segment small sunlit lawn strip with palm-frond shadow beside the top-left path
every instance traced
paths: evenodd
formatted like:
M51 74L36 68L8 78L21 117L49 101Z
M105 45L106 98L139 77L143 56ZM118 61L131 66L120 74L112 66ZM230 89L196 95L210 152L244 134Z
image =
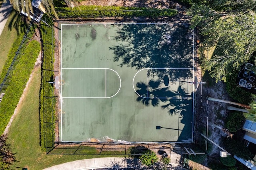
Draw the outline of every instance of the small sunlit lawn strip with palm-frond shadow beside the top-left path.
M2 1L1 1L2 2ZM1 4L0 2L0 4ZM2 73L2 69L4 67L4 64L6 62L6 59L8 57L8 53L10 51L10 48L12 47L12 43L14 40L16 40L18 34L23 30L18 30L16 28L19 27L19 23L17 23L17 20L20 21L21 16L18 15L14 10L10 14L6 25L4 27L4 30L2 31L2 34L0 36L0 74Z

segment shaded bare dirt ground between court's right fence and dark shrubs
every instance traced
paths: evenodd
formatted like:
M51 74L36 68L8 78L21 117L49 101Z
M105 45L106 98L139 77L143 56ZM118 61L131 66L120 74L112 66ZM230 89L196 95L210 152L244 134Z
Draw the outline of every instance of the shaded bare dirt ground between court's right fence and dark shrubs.
M200 141L200 139L204 138L199 131L204 130L205 134L208 125L208 138L223 148L222 139L228 137L222 130L222 128L225 127L225 119L229 113L227 109L228 104L208 101L207 98L212 97L230 101L230 97L226 92L226 85L223 81L215 83L214 79L205 79L203 78L200 65L198 65L197 69L198 81L206 82L206 84L201 84L196 92L196 141ZM208 166L208 162L214 159L214 155L219 155L221 150L211 142L208 143L210 143L211 146L208 146L208 158L204 162L205 166ZM195 166L195 162L192 162L190 166L194 168L197 167Z

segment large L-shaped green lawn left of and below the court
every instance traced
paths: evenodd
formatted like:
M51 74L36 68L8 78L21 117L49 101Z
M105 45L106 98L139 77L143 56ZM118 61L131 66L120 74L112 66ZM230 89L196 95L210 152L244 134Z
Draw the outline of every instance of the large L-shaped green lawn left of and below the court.
M32 81L28 86L24 100L14 118L8 132L8 143L11 144L12 152L16 153L16 160L11 168L28 168L41 170L56 164L74 160L111 157L113 155L54 155L47 154L39 146L39 90L40 68L34 70ZM116 155L115 155L116 157Z

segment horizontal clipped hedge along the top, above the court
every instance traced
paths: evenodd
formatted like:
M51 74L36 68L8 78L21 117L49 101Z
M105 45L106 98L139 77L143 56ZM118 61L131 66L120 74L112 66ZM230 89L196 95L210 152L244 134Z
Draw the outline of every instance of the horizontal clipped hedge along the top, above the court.
M56 8L59 18L98 17L170 17L177 14L175 9L138 8L123 6L79 6Z

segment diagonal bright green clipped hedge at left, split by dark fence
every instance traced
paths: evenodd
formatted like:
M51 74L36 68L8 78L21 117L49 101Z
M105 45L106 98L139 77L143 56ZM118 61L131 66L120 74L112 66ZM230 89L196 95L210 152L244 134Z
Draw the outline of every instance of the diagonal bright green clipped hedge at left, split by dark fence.
M32 37L32 33L29 34L27 37ZM10 52L8 54L8 60L6 61L3 72L1 74L1 81L2 77L6 75L6 72L10 67L10 63L14 58L15 52L21 42L22 36L19 36L14 42L12 48L10 49ZM6 128L8 122L10 121L10 118L14 113L14 110L30 77L32 69L34 68L34 64L36 62L36 58L39 55L39 52L40 43L35 40L32 40L27 45L24 45L24 48L20 50L20 53L23 53L23 55L18 58L18 63L15 65L14 71L12 72L10 85L5 91L5 95L2 99L0 106L0 134L4 132L4 129Z

